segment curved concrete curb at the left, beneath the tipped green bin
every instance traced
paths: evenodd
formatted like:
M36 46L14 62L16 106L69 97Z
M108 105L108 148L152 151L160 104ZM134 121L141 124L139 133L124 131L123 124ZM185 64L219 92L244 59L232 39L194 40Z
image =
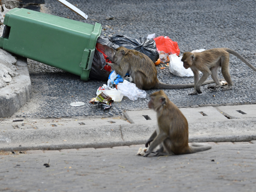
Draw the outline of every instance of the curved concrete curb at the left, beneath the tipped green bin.
M0 91L0 117L12 116L31 98L31 82L27 68L27 58L17 58L18 76L12 78L8 86Z

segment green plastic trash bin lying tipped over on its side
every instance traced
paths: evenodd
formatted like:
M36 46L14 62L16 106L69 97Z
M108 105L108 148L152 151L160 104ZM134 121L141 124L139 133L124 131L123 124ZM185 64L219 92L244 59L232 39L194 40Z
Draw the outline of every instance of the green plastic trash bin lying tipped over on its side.
M4 25L2 49L88 80L101 24L14 8L5 14Z

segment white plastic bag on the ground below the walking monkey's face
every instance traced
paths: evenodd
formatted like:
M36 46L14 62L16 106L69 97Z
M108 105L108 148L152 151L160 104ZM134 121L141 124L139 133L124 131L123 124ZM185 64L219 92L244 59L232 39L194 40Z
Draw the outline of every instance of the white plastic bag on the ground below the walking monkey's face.
M169 69L170 72L179 77L193 77L194 73L190 68L185 69L183 67L182 57L178 57L176 54L169 55Z

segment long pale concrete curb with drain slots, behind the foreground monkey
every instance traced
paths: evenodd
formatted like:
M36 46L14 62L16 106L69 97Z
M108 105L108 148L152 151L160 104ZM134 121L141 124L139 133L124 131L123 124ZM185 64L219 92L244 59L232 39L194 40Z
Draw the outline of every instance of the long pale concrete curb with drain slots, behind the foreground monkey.
M228 119L237 108L183 108L189 124L189 142L241 142L256 140L255 105L243 105L251 118ZM253 110L255 109L255 110ZM198 113L199 112L199 113ZM202 112L204 115L202 115ZM254 114L254 115L253 115ZM124 119L26 119L0 122L0 150L61 150L145 144L157 126L153 110L127 111ZM149 118L148 118L149 117ZM217 118L216 118L217 117ZM148 120L147 120L148 119Z

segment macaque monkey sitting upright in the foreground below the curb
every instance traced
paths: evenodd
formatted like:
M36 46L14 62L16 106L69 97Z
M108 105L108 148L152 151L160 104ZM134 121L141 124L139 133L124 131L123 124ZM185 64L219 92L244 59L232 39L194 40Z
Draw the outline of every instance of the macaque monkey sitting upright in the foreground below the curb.
M171 102L163 90L150 95L148 107L157 112L158 127L146 142L149 146L147 157L160 145L154 156L179 155L206 151L211 145L205 143L192 143L188 145L188 122L179 108Z

